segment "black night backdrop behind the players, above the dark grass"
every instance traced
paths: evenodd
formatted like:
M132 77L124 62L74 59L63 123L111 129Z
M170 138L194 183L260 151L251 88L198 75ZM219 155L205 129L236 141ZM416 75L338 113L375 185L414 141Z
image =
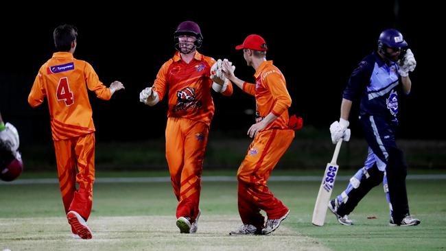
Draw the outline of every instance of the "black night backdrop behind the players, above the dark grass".
M110 101L91 94L97 141L162 139L167 103L145 106L139 102L139 92L152 86L161 64L173 56L173 33L186 20L201 27L204 42L199 51L215 59L228 58L237 67L236 75L248 82L253 82L255 70L246 67L242 52L234 47L248 34L263 36L269 48L267 59L274 60L287 80L293 99L290 113L303 117L306 128L326 133L327 139L330 123L339 119L342 91L351 71L376 49L380 32L395 27L417 61L410 73L412 93L400 101L401 137L446 137L441 122L444 14L426 1L182 1L157 3L159 8L130 2L97 4L102 7L75 2L51 8L27 6L27 12L19 6L3 8L10 17L3 14L0 19L0 111L5 121L19 129L22 143L51 144L47 103L32 109L27 95L38 69L54 52L52 32L63 23L78 27L75 58L91 63L106 86L114 80L126 86ZM244 137L253 123L253 115L245 110L255 108L255 99L236 86L232 97L218 93L213 97L211 134ZM357 109L351 114L351 128L353 137L360 137L356 115Z

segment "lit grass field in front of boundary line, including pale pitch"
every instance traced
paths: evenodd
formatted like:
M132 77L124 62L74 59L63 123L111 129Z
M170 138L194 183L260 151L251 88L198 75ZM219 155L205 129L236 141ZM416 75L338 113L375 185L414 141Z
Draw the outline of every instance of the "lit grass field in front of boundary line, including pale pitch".
M345 174L347 175L347 174ZM273 173L274 176L274 173ZM334 193L347 182L337 182ZM269 236L232 237L241 222L236 182L203 182L196 235L175 226L176 199L168 182L95 184L89 226L93 239L71 238L58 184L0 185L0 250L445 250L445 180L408 180L414 227L388 226L388 206L376 187L342 226L329 213L312 226L319 182L270 182L290 216ZM377 219L367 219L368 216Z

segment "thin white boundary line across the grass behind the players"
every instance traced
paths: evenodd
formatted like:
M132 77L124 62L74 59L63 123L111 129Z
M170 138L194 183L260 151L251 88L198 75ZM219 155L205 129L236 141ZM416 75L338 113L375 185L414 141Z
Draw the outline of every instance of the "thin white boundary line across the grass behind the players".
M322 176L271 176L269 181L320 181ZM351 176L338 176L336 180L349 180ZM446 180L446 174L414 174L408 175L407 180ZM204 182L236 182L235 176L203 176ZM170 182L170 177L144 177L144 178L96 178L95 183L159 183ZM2 184L58 184L56 178L22 179Z

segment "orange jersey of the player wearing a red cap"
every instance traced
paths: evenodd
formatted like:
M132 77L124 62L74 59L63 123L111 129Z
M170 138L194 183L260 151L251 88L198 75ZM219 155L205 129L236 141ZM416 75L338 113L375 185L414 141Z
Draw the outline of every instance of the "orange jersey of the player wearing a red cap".
M291 106L291 97L281 71L272 64L272 61L265 61L260 64L254 77L255 84L245 82L243 91L255 96L256 122L261 121L272 112L278 118L263 130L289 129L288 108Z

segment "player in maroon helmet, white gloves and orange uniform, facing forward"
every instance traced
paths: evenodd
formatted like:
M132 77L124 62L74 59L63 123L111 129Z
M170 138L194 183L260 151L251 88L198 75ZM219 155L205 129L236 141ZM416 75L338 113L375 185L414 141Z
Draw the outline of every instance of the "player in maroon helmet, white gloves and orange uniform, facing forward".
M229 96L233 87L215 74L211 78L215 60L196 50L203 40L196 23L180 23L174 38L177 52L163 64L153 86L141 91L139 99L154 106L167 93L166 158L178 200L176 226L182 233L193 233L200 217L204 151L215 110L211 88Z

